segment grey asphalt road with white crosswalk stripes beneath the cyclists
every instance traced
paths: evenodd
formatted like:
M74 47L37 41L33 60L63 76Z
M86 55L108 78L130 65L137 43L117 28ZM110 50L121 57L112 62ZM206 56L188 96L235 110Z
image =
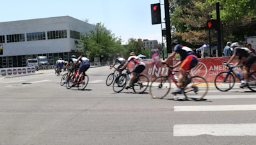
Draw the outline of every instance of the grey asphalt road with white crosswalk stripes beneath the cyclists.
M152 99L148 90L114 93L111 72L90 68L83 91L60 86L52 72L0 79L0 144L256 144L248 89L210 86L198 102Z

